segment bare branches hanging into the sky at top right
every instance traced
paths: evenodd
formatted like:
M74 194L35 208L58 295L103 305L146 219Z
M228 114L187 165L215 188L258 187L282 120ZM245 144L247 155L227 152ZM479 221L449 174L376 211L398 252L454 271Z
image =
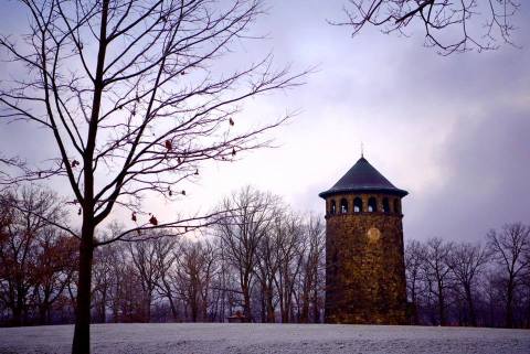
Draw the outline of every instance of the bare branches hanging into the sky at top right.
M383 33L403 34L417 23L425 45L448 55L512 44L512 18L519 7L515 0L348 0L346 20L331 23L350 26L353 35L369 24L381 26Z

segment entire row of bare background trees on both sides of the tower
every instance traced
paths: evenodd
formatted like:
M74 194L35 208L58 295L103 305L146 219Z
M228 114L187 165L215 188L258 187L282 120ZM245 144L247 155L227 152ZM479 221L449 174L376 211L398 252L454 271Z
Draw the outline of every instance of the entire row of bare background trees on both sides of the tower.
M78 239L56 226L68 218L63 205L36 186L0 195L0 325L75 321ZM218 208L193 236L153 230L98 247L93 323L322 322L324 217L252 187ZM407 239L405 269L410 324L530 328L528 225L476 244Z

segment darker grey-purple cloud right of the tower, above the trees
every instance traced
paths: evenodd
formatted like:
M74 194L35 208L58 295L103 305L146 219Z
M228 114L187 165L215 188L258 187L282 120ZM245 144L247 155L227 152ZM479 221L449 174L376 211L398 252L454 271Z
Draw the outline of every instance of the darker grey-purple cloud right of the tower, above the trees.
M407 236L476 240L504 223L530 223L529 112L492 110L455 126L435 157L443 183L407 201Z

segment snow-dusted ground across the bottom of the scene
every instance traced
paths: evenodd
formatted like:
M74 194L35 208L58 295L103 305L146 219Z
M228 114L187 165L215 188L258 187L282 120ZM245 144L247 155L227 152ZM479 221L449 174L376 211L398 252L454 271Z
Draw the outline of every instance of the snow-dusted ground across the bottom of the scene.
M0 353L68 353L73 326L0 329ZM93 352L530 353L530 331L331 324L95 324Z

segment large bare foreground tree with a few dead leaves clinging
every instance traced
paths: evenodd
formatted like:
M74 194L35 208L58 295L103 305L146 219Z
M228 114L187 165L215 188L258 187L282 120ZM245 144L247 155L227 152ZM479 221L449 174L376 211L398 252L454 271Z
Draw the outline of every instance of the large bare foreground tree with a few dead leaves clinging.
M303 74L275 71L271 56L232 73L216 65L262 13L258 0L20 3L28 32L0 36L0 47L24 74L2 81L1 117L44 128L55 155L22 165L12 182L64 178L80 205L81 236L70 230L81 239L73 353L88 353L94 248L132 238L138 229L193 223L146 216L140 197L181 199L186 192L174 186L195 178L199 162L231 161L266 144L258 135L284 119L231 129L239 104L296 86ZM128 208L137 224L98 239L96 227L116 207Z

